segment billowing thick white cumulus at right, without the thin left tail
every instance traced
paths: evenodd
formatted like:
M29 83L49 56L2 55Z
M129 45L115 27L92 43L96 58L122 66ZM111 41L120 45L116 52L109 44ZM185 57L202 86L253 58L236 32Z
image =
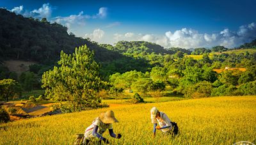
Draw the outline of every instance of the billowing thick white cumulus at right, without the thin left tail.
M234 48L245 42L256 38L256 25L251 23L242 25L237 31L224 29L219 33L202 34L193 29L181 29L175 32L166 32L169 46L179 46L182 48L211 47L222 45Z

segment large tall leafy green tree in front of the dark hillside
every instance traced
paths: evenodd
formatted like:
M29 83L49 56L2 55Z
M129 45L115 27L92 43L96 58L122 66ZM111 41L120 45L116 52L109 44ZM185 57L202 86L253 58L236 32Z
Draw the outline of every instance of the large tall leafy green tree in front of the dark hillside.
M72 55L61 51L60 67L55 66L42 76L45 95L54 100L66 100L67 104L62 107L67 112L99 106L100 98L95 93L104 83L99 78L99 64L93 56L86 45L76 48Z

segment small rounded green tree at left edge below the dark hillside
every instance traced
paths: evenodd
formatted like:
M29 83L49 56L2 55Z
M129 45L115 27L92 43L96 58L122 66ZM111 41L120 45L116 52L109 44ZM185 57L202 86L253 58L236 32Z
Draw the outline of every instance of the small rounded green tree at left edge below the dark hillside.
M13 79L3 79L0 80L0 97L6 99L8 102L9 97L12 97L19 89L17 87L19 84Z

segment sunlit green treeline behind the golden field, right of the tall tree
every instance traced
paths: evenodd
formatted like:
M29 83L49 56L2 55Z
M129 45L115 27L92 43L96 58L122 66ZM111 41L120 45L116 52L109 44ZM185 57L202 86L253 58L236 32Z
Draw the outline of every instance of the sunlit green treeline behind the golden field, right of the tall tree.
M213 71L224 67L245 67L246 71ZM212 59L205 54L201 60L191 57L175 60L173 55L165 55L163 67L153 67L145 73L116 73L109 77L109 81L117 90L128 89L143 94L171 86L172 93L192 98L256 95L256 53L221 54Z

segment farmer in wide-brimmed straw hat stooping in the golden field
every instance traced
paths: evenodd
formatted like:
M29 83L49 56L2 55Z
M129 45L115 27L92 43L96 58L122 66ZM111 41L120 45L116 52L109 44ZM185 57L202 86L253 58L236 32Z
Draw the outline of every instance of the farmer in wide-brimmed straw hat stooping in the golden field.
M109 144L108 139L102 137L102 134L108 129L111 137L120 139L121 134L114 134L112 123L118 122L115 118L113 111L106 111L106 113L100 113L100 116L93 120L92 125L86 128L84 132L83 144L93 144L94 141L101 143L104 141Z

